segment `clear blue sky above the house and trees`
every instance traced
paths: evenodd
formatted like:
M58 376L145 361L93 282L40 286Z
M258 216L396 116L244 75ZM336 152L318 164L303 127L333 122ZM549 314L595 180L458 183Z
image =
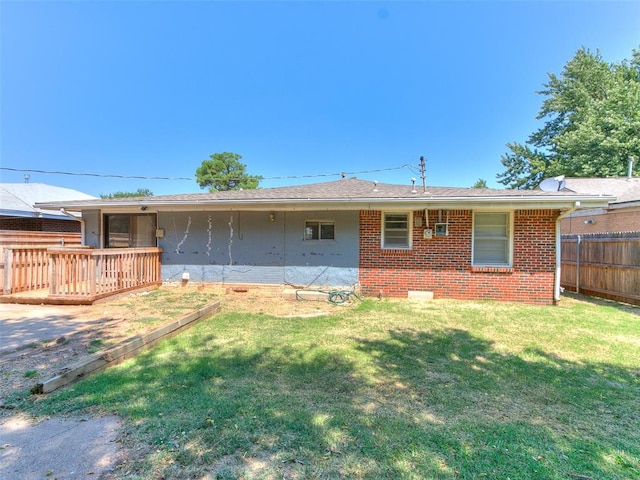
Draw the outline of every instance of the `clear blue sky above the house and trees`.
M0 166L104 175L29 173L96 196L201 191L106 176L193 178L223 151L263 187L409 184L424 156L429 185L501 188L547 74L640 44L640 2L5 0L0 22Z

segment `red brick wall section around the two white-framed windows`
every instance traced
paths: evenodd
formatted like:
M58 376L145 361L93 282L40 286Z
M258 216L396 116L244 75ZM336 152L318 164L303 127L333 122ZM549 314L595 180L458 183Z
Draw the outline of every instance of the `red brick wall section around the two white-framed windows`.
M360 212L360 285L365 295L406 297L410 290L434 298L553 303L556 210L514 212L513 267L473 268L471 210L449 212L449 235L426 240L414 212L411 250L381 248L382 212ZM444 220L444 218L443 218ZM429 225L438 212L429 211Z

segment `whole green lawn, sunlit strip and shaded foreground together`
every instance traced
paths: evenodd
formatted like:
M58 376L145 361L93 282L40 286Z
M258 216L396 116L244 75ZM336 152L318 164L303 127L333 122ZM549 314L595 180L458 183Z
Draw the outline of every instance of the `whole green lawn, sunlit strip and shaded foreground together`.
M107 412L119 478L640 478L640 310L225 313L24 408Z

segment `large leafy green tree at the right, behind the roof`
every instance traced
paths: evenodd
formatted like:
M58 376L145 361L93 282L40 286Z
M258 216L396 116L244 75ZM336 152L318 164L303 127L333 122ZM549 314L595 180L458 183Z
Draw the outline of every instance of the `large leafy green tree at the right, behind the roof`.
M609 64L582 48L543 87L537 119L545 123L524 145L507 144L498 181L535 188L557 175L625 175L629 157L640 158L640 51Z

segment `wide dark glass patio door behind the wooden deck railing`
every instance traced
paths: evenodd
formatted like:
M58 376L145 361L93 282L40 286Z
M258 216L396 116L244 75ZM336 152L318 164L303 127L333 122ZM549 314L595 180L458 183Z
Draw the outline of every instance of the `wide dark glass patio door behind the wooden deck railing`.
M105 215L104 232L106 248L131 248L156 246L156 216Z

